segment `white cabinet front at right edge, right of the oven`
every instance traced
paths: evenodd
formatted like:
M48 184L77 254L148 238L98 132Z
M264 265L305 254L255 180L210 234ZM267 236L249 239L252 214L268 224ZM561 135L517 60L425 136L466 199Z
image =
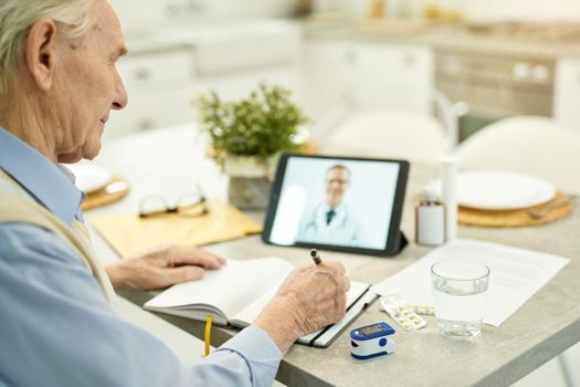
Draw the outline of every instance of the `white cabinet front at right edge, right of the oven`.
M553 88L553 118L580 130L580 59L558 60Z

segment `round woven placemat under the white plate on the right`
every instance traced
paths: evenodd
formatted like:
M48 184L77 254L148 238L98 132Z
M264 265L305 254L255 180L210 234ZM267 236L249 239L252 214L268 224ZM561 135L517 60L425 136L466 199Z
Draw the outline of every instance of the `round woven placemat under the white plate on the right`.
M530 208L519 210L478 210L460 207L458 221L462 224L485 227L520 227L552 222L568 216L572 211L572 200L552 207L555 201L561 201L566 194L557 192L552 200ZM530 210L542 213L540 218L530 215ZM544 215L545 213L545 215Z

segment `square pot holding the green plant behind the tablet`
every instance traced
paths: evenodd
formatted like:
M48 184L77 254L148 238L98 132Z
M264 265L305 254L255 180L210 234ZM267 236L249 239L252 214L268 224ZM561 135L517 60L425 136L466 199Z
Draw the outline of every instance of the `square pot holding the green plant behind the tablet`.
M251 156L230 156L224 159L224 171L230 177L230 203L241 210L265 210L270 201L277 157L266 164Z

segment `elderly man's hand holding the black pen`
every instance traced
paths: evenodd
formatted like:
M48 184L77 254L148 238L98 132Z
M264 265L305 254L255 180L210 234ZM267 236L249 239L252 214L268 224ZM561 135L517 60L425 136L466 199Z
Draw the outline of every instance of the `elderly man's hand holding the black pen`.
M285 354L300 336L339 322L350 281L338 262L294 270L254 321Z

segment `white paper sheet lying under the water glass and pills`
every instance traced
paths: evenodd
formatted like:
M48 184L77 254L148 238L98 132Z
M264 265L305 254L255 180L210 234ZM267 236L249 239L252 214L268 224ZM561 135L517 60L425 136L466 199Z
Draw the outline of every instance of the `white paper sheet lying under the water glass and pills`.
M412 265L373 285L380 295L401 294L407 302L433 304L431 266L441 260L481 262L489 268L484 323L499 326L570 261L498 243L455 239Z

